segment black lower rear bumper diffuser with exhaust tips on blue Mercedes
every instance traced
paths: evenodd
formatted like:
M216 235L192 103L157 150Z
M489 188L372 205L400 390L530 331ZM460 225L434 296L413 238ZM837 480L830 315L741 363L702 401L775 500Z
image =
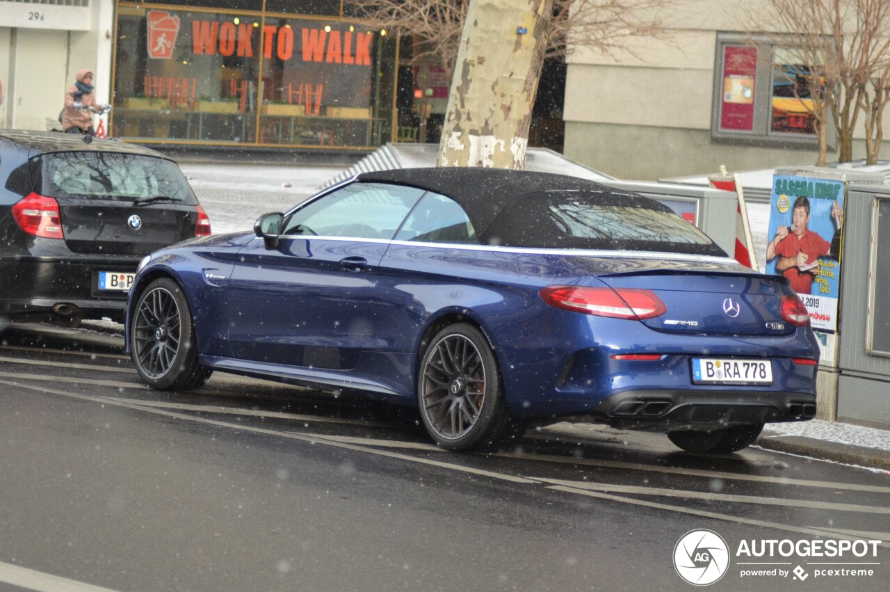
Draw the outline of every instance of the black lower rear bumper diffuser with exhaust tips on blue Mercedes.
M626 391L603 399L591 415L613 427L654 432L803 421L816 415L811 393Z

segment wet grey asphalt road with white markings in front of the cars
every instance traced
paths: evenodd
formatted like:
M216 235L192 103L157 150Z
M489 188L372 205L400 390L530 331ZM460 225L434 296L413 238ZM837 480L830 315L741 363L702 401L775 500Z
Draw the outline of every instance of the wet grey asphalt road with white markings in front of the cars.
M694 529L730 547L714 589L890 582L886 474L692 456L611 429L453 454L410 410L354 398L219 373L151 391L119 336L2 340L2 590L684 590L674 549ZM820 538L883 542L877 556L735 556L742 539ZM815 565L838 562L857 565ZM805 585L740 575L797 566ZM874 575L813 572L851 567Z

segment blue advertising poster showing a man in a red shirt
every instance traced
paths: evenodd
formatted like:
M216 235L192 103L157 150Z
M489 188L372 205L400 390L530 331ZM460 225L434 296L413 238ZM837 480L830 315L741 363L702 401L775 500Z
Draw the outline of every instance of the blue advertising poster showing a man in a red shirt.
M766 272L788 278L813 328L832 334L837 330L843 211L844 182L773 176Z

